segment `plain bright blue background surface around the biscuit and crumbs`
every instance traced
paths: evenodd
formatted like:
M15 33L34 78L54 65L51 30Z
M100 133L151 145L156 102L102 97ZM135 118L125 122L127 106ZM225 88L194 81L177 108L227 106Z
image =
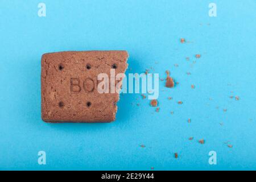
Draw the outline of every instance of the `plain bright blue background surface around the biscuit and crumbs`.
M205 0L43 1L46 17L40 1L0 2L0 169L256 169L256 1L214 0L217 17ZM179 85L160 81L159 113L124 94L113 123L44 123L42 54L94 49L127 50L126 73L168 69Z

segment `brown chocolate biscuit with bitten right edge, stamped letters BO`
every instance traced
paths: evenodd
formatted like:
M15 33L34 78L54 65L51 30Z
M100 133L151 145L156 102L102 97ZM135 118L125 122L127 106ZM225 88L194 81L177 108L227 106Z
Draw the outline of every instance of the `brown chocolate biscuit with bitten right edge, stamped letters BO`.
M97 76L125 73L126 51L46 53L41 61L42 119L46 122L110 122L119 93L99 93Z

